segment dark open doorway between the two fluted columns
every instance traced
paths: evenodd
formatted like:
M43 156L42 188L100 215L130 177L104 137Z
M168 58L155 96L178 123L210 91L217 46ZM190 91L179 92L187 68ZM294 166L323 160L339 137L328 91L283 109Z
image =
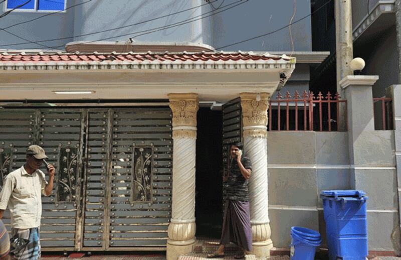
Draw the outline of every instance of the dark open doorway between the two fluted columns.
M220 238L222 211L222 111L199 108L196 138L196 236Z

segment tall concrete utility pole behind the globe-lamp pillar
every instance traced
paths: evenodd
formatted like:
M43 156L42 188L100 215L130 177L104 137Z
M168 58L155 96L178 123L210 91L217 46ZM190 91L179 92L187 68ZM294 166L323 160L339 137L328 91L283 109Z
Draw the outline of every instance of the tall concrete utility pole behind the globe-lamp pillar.
M352 42L352 13L351 0L332 0L335 1L335 45L336 45L336 60L337 60L337 92L342 98L345 98L341 86L338 84L345 76L353 75L349 64L353 57L353 42ZM340 105L340 129L345 130L347 122L346 106Z

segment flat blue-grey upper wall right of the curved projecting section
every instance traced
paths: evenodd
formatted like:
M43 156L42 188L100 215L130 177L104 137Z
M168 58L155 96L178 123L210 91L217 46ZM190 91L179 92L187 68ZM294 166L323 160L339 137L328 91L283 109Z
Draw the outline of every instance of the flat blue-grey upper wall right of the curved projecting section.
M227 2L227 1L226 1ZM215 48L271 32L289 24L294 1L252 0L228 12L213 17L213 46ZM310 14L310 1L297 1L293 21ZM310 17L292 26L295 51L311 51ZM288 28L225 50L285 51L291 50Z

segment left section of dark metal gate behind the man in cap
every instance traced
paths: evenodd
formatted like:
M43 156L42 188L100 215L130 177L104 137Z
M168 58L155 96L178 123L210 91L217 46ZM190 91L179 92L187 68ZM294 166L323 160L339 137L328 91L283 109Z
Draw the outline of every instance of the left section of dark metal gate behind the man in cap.
M85 110L16 109L0 110L0 172L4 178L22 167L26 149L42 146L48 162L56 167L55 186L42 198L41 244L46 248L74 250L80 240L80 180L82 169ZM46 167L41 170L45 173ZM10 213L4 215L10 231Z

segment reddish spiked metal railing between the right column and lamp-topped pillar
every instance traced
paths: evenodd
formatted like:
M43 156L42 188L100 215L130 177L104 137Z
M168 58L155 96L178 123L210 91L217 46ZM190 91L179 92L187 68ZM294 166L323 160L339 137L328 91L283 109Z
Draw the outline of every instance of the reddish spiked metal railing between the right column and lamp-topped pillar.
M287 91L283 97L280 92L269 101L269 131L339 131L340 105L346 107L346 100L321 92L314 96L306 90L302 95L295 91L291 96ZM284 118L284 120L282 119ZM347 118L344 118L345 122ZM346 128L343 130L346 131Z

